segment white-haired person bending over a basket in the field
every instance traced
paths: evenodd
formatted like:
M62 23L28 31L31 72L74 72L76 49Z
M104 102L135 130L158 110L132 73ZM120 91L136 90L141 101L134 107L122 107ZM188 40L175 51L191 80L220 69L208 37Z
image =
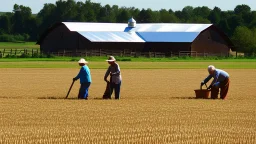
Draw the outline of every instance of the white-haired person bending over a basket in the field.
M214 78L208 89L211 90L211 98L218 98L220 89L220 98L225 99L229 89L229 74L221 69L216 69L213 65L208 66L209 76L202 82L201 86L206 84L211 78Z

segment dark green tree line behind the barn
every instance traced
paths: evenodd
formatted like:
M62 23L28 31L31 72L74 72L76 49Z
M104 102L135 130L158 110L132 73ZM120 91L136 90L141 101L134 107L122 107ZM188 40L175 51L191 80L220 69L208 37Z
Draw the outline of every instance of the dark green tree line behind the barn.
M55 4L44 4L36 15L31 8L15 4L13 12L0 16L0 41L37 41L56 22L127 23L131 17L137 23L212 23L231 38L238 51L256 52L256 11L244 4L230 11L206 6L173 11L103 6L90 0L58 0Z

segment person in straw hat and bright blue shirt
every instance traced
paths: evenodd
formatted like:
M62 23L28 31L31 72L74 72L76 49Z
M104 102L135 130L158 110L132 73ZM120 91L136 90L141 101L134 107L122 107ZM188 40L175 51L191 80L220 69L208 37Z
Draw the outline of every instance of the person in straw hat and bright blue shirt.
M87 66L88 62L83 58L78 61L78 64L81 66L81 69L78 75L73 78L73 81L80 79L81 85L78 93L78 99L88 99L89 87L92 82L90 69Z

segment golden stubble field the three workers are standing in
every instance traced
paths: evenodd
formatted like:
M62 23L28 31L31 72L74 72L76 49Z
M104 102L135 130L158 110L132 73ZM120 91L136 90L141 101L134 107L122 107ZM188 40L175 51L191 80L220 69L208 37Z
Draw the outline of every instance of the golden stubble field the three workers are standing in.
M123 69L121 100L91 69L89 100L64 99L78 71L1 68L0 143L256 143L255 69L226 70L227 100L195 99L205 69Z

